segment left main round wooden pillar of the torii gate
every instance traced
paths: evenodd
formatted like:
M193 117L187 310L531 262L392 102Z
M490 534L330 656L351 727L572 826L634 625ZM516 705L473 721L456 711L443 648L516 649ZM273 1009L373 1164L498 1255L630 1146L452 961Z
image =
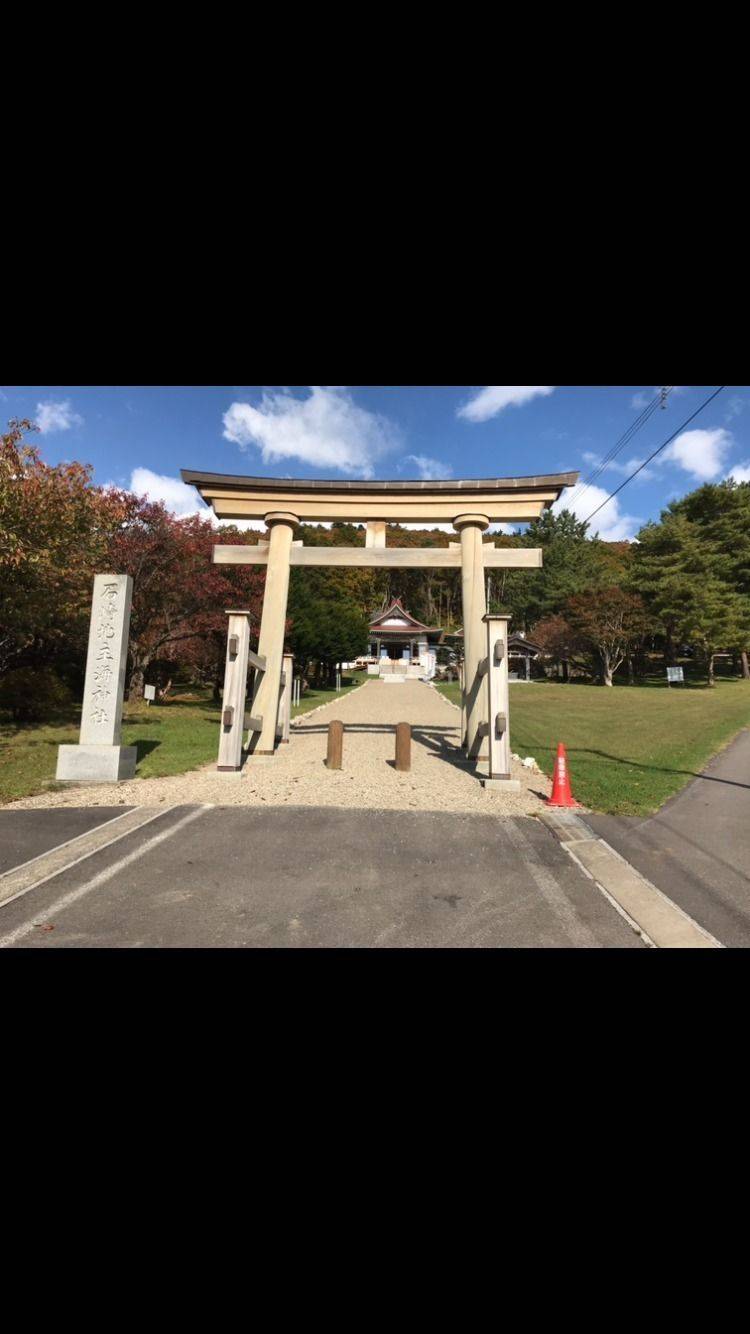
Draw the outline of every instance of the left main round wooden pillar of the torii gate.
M255 755L272 755L276 743L276 718L284 656L284 626L290 594L290 552L298 518L279 511L266 515L271 530L263 616L258 652L266 658L266 671L256 672L252 712L263 719L263 731L254 735L250 748Z

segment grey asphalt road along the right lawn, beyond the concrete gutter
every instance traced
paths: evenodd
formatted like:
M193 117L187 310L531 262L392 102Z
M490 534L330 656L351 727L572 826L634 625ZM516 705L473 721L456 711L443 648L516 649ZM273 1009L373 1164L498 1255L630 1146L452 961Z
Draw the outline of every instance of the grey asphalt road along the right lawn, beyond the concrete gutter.
M750 946L750 731L657 815L586 823L722 944Z

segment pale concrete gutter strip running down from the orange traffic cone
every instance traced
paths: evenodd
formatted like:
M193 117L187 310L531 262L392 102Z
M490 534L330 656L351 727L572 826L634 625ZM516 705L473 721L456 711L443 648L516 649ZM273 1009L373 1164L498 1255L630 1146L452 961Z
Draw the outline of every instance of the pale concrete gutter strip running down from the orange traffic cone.
M573 811L538 816L646 944L657 950L722 950L715 936L662 894Z

